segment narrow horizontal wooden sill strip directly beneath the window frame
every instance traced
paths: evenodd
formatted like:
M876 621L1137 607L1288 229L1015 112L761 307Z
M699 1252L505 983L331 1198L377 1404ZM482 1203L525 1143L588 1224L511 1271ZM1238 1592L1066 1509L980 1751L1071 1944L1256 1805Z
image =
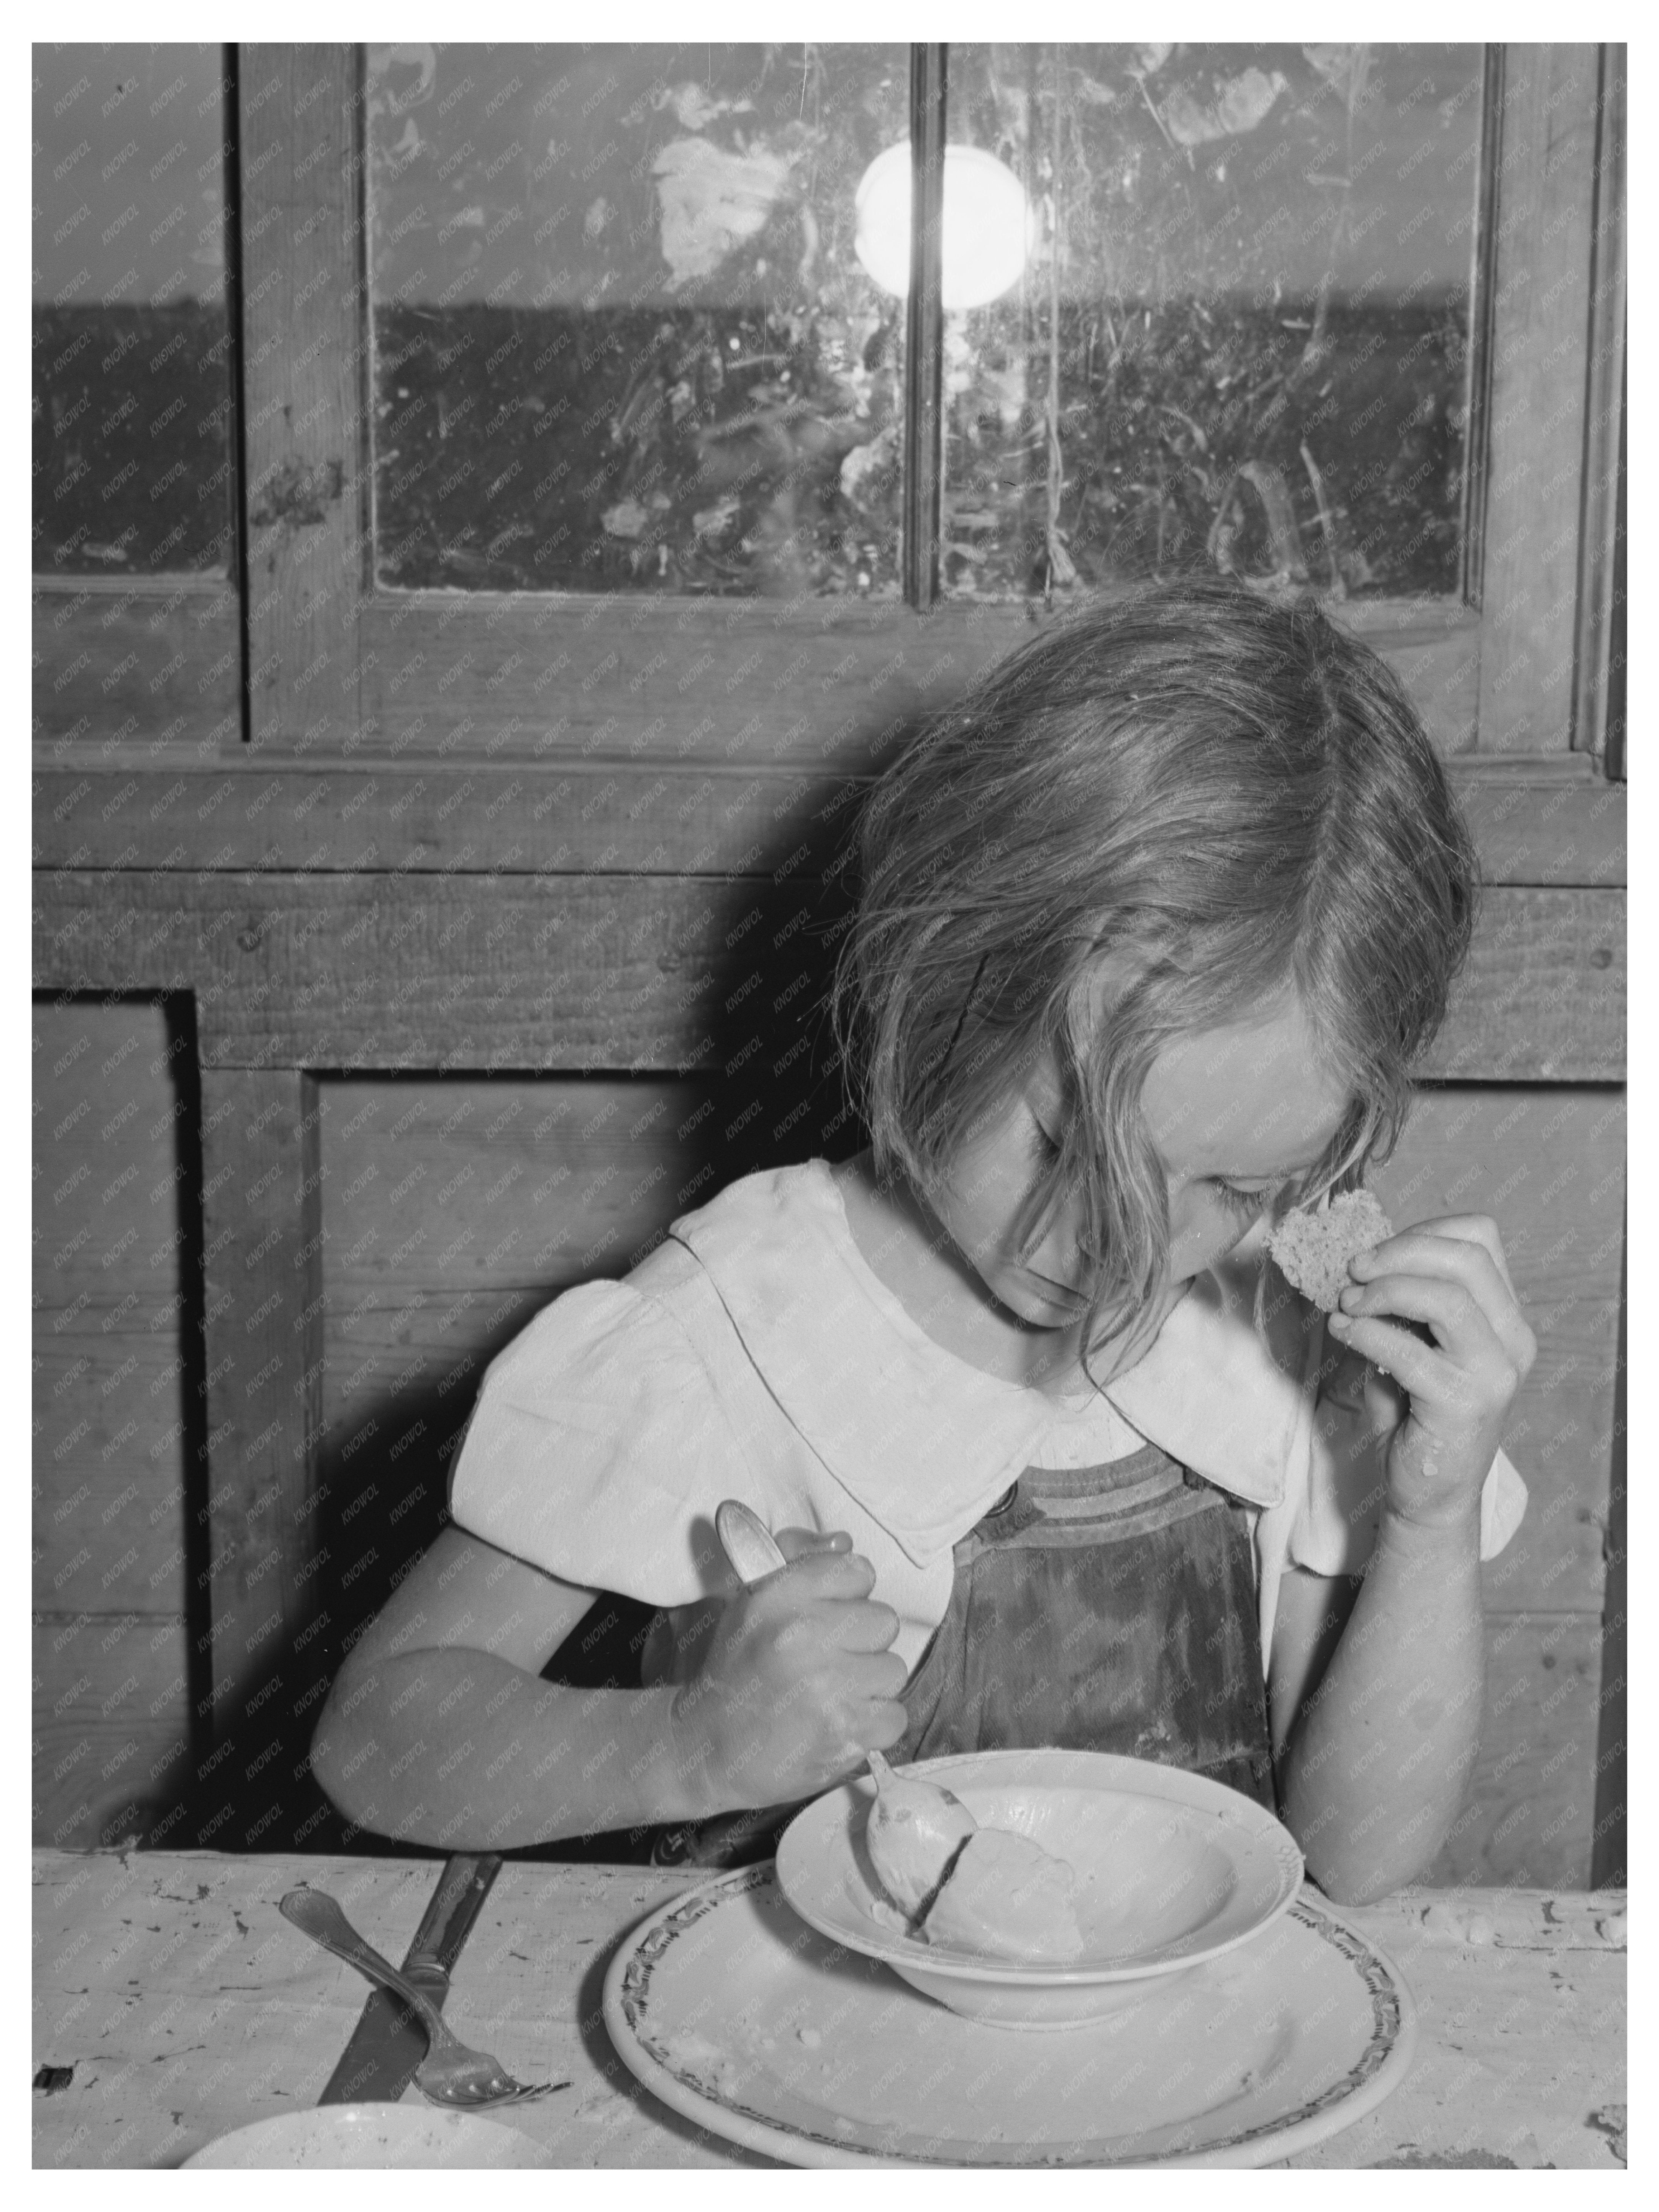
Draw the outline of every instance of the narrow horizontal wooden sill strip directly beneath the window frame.
M1584 757L1449 763L1489 883L1626 880L1621 785ZM321 874L832 874L869 776L595 752L549 761L338 761L137 743L38 757L38 869Z

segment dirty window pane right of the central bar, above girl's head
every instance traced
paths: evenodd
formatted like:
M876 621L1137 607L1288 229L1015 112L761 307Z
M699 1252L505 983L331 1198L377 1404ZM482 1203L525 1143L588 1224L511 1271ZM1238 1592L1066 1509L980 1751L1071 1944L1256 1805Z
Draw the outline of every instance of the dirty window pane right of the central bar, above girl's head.
M1033 223L947 316L945 588L1455 593L1480 97L1478 46L951 46Z

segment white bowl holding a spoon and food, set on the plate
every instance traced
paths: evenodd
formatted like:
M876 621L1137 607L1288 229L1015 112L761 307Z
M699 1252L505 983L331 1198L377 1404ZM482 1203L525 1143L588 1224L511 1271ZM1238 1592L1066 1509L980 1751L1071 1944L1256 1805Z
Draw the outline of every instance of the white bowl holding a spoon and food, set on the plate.
M1071 2028L1137 2004L1290 1909L1294 1836L1221 1783L1106 1752L964 1752L905 1767L951 1790L980 1827L1031 1836L1071 1863L1088 1944L1064 1966L929 1944L894 1924L865 1851L869 1776L803 1807L779 1843L779 1887L832 1942L878 1958L953 2013L1011 2028Z

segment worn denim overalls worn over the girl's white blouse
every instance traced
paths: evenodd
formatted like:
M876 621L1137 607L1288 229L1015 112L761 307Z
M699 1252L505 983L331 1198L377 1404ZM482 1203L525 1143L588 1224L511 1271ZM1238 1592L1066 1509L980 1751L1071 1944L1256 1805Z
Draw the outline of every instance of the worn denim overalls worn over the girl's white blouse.
M894 1765L1055 1743L1186 1767L1276 1812L1245 1509L1157 1444L1026 1467L956 1544L905 1710ZM653 1863L768 1858L794 1812L664 1829Z

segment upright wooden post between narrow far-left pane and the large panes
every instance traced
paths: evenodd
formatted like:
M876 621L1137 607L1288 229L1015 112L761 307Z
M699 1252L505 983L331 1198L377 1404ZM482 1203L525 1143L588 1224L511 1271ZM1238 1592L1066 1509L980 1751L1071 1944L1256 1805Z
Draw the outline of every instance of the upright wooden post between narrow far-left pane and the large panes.
M250 741L349 750L367 522L356 46L241 49Z

